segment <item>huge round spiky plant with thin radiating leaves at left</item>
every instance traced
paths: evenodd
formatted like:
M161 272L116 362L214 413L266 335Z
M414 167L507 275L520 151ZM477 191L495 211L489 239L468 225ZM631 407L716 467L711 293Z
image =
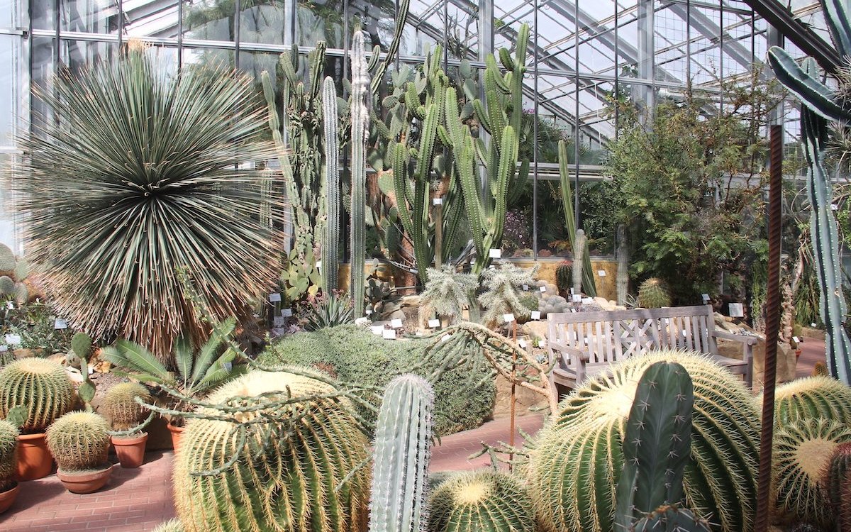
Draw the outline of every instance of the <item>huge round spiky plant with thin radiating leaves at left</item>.
M168 76L144 46L36 89L51 117L21 138L14 187L31 260L60 315L96 339L144 343L165 360L203 326L181 294L186 268L218 319L248 317L277 275L279 213L265 109L246 75L188 66ZM54 120L56 117L57 120Z

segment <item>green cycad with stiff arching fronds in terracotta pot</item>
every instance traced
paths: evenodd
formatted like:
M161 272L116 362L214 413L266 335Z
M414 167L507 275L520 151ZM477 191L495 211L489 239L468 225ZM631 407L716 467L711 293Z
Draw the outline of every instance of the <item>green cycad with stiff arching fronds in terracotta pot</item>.
M214 387L244 375L248 366L234 365L237 353L231 347L223 348L228 335L236 328L237 321L229 318L213 328L203 346L197 351L187 335L174 340L174 363L176 371L169 371L156 356L134 341L118 340L114 346L103 349L104 357L125 371L117 375L131 377L140 382L168 387L186 398L203 398ZM227 344L226 344L227 346ZM174 397L169 394L169 397ZM188 412L194 405L174 399L172 409ZM174 420L172 420L174 423Z

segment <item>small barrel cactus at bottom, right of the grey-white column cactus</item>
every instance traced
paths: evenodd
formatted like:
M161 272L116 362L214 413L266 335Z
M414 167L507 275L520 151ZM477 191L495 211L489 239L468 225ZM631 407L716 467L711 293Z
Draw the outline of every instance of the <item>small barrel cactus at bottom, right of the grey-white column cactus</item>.
M429 532L534 532L532 501L504 472L460 473L434 490L428 503Z

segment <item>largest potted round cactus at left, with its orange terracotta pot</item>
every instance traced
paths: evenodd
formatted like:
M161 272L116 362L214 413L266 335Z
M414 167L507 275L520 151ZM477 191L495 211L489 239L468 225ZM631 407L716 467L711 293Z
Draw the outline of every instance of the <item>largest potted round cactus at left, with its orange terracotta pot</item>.
M9 419L20 429L20 480L49 475L53 458L44 440L44 429L73 404L74 386L58 363L44 358L25 358L0 371L0 418ZM13 416L13 412L18 415Z

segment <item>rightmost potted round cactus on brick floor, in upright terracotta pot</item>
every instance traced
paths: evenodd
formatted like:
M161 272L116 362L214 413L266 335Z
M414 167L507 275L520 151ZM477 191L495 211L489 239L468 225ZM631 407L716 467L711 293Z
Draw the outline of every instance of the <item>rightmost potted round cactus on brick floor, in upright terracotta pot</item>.
M139 467L145 461L147 409L136 398L150 403L151 392L138 383L123 382L112 386L104 397L104 413L112 421L112 446L122 467Z

